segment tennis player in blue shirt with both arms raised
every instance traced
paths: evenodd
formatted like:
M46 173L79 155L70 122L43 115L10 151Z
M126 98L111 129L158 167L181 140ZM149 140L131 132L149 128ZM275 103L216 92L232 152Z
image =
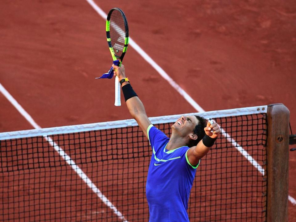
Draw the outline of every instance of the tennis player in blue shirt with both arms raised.
M149 139L152 157L149 165L146 197L149 222L189 221L187 208L195 171L221 132L217 123L203 117L182 116L172 126L171 138L153 126L145 108L125 77L125 68L113 64L126 105Z

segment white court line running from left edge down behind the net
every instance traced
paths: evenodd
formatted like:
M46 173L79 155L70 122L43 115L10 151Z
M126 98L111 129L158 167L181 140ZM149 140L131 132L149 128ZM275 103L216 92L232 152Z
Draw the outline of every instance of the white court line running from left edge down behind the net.
M35 128L35 129L41 129L41 127L33 120L33 118L29 115L29 113L26 112L26 110L23 109L21 105L10 95L10 93L2 86L0 83L0 91L2 94L6 97L8 101L25 117L25 119ZM60 156L68 163L72 169L76 172L76 174L86 183L86 185L92 189L92 191L97 194L97 196L102 200L104 204L106 204L110 209L113 210L113 212L117 215L118 218L120 218L124 222L128 222L122 213L117 210L117 208L111 203L111 201L96 187L94 183L92 183L91 179L88 178L88 176L76 165L74 160L70 158L68 154L65 153L65 151L58 146L51 137L43 136L43 138L51 145L56 152L60 154Z

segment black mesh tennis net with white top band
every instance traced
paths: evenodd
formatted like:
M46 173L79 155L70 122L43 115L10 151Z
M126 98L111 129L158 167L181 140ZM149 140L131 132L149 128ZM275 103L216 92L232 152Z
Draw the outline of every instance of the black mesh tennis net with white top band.
M267 106L189 113L222 133L197 168L190 221L266 221ZM152 117L171 134L181 115ZM134 120L0 133L0 221L148 221L148 139Z

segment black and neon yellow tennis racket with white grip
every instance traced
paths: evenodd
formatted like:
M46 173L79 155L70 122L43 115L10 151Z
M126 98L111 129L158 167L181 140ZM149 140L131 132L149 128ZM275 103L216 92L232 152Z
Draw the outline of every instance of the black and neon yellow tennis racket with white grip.
M129 27L125 14L119 8L113 8L109 11L106 21L106 34L109 49L114 60L119 60L121 66L123 57L129 43ZM120 83L118 77L115 77L115 104L120 106Z

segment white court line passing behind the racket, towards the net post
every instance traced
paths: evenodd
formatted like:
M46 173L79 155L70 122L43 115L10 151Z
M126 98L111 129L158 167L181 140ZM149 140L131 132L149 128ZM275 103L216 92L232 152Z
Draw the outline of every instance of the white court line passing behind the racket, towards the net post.
M107 14L101 10L101 8L99 6L97 6L97 4L92 1L92 0L86 0L94 10L97 11L97 13L99 15L101 15L101 17L103 19L107 19ZM142 48L134 42L133 39L131 39L129 37L129 45L131 47L133 47L141 56L144 60L146 60L165 80L167 80L167 82L175 89L177 90L177 92L179 92L179 94L184 98L186 99L186 101L191 105L193 106L194 109L196 109L198 112L204 112L204 109L201 108L201 106L199 106L197 104L197 102L195 102L191 96L188 95L187 92L185 92L185 90L183 88L181 88L179 86L179 84L177 84L144 50L142 50ZM223 130L221 128L221 131L222 133L225 132L225 130ZM226 133L226 132L225 132ZM225 135L225 134L222 134L222 135ZM228 142L231 142L232 143L232 146L234 146L262 175L265 175L265 171L263 169L263 167L260 166L260 164L255 160L253 159L253 157L248 154L248 152L246 150L243 149L243 147L241 145L239 145L234 139L232 139L230 137L229 134L226 134L227 136L227 141ZM290 198L290 195L289 195L289 200L291 201L291 199L294 199L294 198ZM296 201L295 202L292 202L292 204L296 205Z

